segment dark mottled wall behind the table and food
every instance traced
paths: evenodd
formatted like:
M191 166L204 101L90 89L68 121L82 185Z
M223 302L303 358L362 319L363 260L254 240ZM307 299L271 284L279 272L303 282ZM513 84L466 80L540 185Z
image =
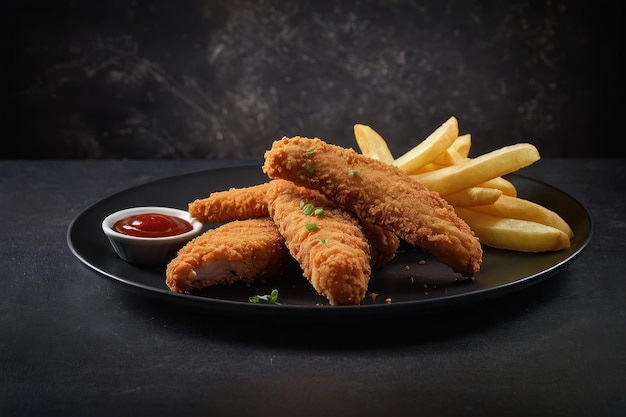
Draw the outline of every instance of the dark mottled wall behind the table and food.
M355 123L399 156L450 116L472 155L613 157L618 4L14 2L0 157L260 159L284 135L356 147Z

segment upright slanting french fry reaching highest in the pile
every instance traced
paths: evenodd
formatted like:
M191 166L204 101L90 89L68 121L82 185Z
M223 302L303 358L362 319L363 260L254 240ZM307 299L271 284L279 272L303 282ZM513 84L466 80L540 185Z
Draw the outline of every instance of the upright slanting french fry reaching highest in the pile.
M393 165L411 174L433 162L459 136L459 122L453 116L444 122L417 146L393 161Z

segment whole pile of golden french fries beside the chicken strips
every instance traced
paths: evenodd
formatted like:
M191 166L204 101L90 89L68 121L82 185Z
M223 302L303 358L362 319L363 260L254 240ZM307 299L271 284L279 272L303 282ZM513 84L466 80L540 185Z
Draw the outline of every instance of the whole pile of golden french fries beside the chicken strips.
M370 126L354 125L363 155L394 165L438 192L474 230L481 243L521 252L566 249L574 233L557 213L517 196L503 175L540 159L530 143L517 143L470 158L471 135L459 136L450 117L404 155L394 158L387 142Z

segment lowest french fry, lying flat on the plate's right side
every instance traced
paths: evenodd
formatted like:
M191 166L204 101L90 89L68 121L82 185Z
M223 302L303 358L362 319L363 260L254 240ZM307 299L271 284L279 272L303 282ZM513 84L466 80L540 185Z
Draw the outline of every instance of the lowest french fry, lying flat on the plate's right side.
M458 207L456 213L472 228L484 245L520 252L547 252L569 248L566 233L528 220L491 216Z

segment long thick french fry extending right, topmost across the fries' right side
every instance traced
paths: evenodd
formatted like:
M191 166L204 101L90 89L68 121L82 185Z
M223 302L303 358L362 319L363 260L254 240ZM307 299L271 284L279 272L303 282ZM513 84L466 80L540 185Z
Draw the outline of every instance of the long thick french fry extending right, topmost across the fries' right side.
M539 152L534 145L516 143L457 165L411 176L426 188L446 195L517 171L538 161L539 158Z

